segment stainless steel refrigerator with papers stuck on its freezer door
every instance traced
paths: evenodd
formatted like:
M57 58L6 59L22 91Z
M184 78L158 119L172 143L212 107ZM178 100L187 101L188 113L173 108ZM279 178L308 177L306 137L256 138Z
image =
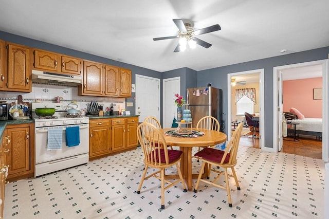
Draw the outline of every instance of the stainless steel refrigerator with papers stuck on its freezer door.
M186 108L190 109L192 127L204 116L213 116L221 124L221 132L224 132L222 122L222 90L214 87L195 87L186 89Z

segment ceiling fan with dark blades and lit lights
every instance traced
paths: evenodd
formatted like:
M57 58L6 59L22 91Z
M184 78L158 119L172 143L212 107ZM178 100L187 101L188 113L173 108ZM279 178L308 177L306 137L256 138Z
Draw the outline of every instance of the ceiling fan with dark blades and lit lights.
M184 51L188 47L193 48L195 47L195 44L198 44L205 48L209 48L210 46L212 46L210 43L200 40L195 36L221 30L221 26L218 24L205 27L202 29L194 30L191 24L184 23L181 19L173 19L173 22L176 24L179 30L177 35L153 38L153 40L157 41L157 40L168 40L168 39L179 38L179 43L176 46L174 52Z

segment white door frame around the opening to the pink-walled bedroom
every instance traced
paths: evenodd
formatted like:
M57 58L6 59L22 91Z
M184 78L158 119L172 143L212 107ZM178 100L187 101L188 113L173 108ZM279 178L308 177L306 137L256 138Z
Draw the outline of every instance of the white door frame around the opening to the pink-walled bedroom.
M329 160L328 148L328 60L319 60L277 66L273 68L273 149L280 151L282 148L282 72L284 69L298 68L303 66L321 65L322 66L322 159Z

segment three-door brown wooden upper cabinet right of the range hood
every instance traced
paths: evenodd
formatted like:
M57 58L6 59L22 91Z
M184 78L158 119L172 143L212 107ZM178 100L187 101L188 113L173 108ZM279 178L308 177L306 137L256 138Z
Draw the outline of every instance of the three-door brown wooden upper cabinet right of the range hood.
M83 71L83 84L79 85L79 95L131 97L131 70L84 61Z

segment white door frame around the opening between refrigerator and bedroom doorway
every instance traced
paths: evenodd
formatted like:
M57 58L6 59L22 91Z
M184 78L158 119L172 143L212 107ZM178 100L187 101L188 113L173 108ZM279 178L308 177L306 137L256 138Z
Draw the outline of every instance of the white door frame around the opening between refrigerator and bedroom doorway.
M233 109L232 107L234 107L234 99L232 99L232 92L235 92L234 89L232 89L232 79L236 79L238 77L245 77L247 78L248 76L251 75L257 75L258 76L258 81L259 81L259 90L256 93L256 95L258 95L259 97L259 116L260 116L260 129L259 129L259 144L261 149L264 149L264 138L262 138L262 136L264 136L264 113L262 113L263 109L264 109L264 69L255 69L255 70L249 70L249 71L241 71L241 72L234 72L234 73L230 73L227 75L227 90L228 90L228 94L227 94L227 124L231 124L232 121L232 112ZM235 112L235 110L234 110ZM230 125L227 125L228 127L231 127ZM227 136L228 136L228 141L230 140L230 136L231 136L231 129L228 128L227 129Z

